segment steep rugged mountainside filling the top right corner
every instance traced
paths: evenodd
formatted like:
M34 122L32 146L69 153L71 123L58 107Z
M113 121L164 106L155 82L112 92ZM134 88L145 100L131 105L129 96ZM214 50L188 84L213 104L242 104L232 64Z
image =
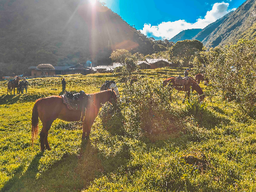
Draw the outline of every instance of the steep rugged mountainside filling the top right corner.
M247 0L237 10L228 15L221 25L216 27L202 43L205 46L219 46L237 43L240 38L255 38L256 2Z

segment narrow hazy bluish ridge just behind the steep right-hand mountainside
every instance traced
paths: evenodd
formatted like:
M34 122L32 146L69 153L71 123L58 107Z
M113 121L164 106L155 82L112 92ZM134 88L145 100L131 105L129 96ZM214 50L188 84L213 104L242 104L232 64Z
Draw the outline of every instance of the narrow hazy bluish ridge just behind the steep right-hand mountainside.
M233 13L230 12L226 15L224 15L222 18L218 19L217 21L211 23L210 25L207 25L204 29L202 29L197 35L195 35L192 40L197 39L198 41L204 41L204 39L211 34L219 25L222 24L222 22L229 17L229 15Z

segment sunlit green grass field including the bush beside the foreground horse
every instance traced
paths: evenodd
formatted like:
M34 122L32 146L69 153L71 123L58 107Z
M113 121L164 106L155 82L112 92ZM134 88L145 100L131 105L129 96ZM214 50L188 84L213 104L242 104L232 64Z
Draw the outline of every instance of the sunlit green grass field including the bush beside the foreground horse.
M38 139L31 147L31 111L38 98L61 94L61 78L29 79L22 95L6 95L1 81L1 191L256 191L255 119L202 84L212 96L204 105L196 93L182 104L185 93L175 90L172 102L159 102L167 93L154 87L178 74L140 70L133 86L119 74L66 75L69 91L95 93L116 81L119 110L102 107L88 142L80 122L57 119L44 153Z

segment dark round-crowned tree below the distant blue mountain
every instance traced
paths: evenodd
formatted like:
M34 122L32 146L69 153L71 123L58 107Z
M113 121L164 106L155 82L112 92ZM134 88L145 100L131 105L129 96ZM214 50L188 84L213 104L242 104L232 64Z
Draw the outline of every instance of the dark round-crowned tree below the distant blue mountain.
M203 43L198 40L178 41L170 48L170 61L183 61L183 65L189 66L189 61L196 53L203 50Z

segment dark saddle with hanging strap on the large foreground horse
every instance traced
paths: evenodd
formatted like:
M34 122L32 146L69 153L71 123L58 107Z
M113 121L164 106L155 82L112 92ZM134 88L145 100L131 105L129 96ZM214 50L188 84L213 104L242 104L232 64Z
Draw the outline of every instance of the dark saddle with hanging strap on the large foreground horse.
M86 109L93 102L91 99L91 95L85 94L84 91L80 91L79 93L73 94L68 91L65 92L64 95L61 95L63 99L63 103L67 105L67 109L81 111L81 119L85 119Z

